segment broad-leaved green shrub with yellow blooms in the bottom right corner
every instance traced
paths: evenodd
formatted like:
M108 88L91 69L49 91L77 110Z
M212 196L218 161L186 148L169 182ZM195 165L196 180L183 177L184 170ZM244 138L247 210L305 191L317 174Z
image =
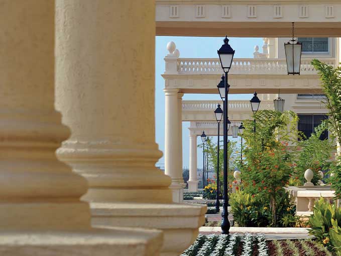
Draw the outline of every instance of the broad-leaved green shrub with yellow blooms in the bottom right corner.
M336 255L341 255L341 208L329 204L322 197L315 202L309 217L309 233Z

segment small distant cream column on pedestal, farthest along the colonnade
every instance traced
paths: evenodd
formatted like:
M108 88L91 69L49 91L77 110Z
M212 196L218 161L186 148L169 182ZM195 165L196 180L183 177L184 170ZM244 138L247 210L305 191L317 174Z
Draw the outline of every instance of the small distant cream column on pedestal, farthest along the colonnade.
M196 134L189 135L189 180L187 183L188 192L198 191Z

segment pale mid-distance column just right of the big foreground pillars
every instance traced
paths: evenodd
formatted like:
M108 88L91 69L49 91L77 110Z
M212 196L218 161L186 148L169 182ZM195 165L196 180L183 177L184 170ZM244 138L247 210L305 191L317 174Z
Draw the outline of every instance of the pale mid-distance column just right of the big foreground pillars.
M165 174L171 177L170 188L173 192L173 201L183 202L182 178L182 132L180 134L178 89L164 89L165 92ZM181 138L180 138L181 136ZM180 157L181 155L181 157ZM181 160L180 160L181 158Z

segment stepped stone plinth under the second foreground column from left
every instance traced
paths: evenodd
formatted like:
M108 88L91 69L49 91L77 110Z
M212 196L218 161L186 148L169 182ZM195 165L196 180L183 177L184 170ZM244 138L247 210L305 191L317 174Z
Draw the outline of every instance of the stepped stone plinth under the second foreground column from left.
M90 203L95 227L139 227L161 229L162 256L178 256L196 239L205 223L205 205Z

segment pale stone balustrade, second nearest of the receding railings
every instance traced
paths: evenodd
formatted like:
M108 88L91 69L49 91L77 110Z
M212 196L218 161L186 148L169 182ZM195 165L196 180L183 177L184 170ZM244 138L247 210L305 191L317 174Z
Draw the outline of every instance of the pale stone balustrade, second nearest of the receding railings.
M217 108L217 105L220 104L222 108L221 101L182 101L182 109L183 110L192 110L192 111L214 111ZM274 102L273 101L261 101L261 105L259 107L261 110L264 109L273 109ZM249 100L232 100L229 101L229 110L250 110L250 101Z

